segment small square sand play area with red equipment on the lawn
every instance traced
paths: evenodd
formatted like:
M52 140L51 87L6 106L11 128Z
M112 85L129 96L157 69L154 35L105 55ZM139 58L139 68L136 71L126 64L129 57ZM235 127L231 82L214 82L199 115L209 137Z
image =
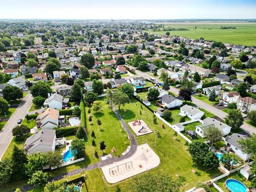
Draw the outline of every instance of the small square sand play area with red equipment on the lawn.
M136 136L153 133L150 127L148 127L142 119L129 122L128 124L130 125Z

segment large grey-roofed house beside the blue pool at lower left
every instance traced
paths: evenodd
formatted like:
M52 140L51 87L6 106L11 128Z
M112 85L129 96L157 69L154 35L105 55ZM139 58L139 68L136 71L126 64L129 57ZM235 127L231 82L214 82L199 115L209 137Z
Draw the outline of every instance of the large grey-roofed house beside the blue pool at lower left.
M26 139L24 150L27 154L37 152L54 152L56 143L55 130L41 129L34 135Z

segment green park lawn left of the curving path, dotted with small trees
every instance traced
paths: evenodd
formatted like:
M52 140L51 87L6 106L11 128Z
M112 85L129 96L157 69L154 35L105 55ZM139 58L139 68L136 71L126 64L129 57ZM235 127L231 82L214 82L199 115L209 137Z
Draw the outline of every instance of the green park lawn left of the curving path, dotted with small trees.
M116 114L111 112L110 107L106 104L105 98L99 99L99 101L101 102L102 111L94 113L91 110L90 114L87 113L88 135L91 140L94 139L96 142L96 146L93 146L93 153L97 151L98 155L102 156L99 143L105 141L106 149L103 151L104 153L110 154L112 148L115 147L116 152L113 153L113 155L121 155L121 153L126 150L127 146L130 145L130 141ZM89 115L92 116L91 122L89 122L88 119ZM102 122L100 127L97 124L97 119ZM91 138L92 131L95 133L95 138Z

